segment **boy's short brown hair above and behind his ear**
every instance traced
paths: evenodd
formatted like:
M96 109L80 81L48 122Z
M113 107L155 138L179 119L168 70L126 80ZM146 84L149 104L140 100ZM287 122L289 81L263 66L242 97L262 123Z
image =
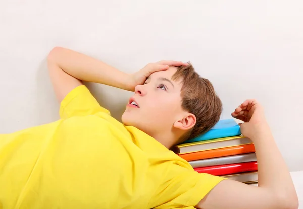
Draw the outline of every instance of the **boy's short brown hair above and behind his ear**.
M210 130L219 121L223 108L212 83L195 72L190 62L178 67L172 80L182 80L182 108L196 117L195 126L177 142L182 143Z

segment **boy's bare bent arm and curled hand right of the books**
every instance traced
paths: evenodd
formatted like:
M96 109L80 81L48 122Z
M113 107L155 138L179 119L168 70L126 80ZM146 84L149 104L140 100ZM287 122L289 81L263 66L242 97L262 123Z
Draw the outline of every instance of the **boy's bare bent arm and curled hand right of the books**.
M265 121L260 104L255 100L246 100L232 115L245 121L240 124L241 132L254 142L258 160L258 187L223 180L196 207L203 209L298 208L296 191L287 165Z

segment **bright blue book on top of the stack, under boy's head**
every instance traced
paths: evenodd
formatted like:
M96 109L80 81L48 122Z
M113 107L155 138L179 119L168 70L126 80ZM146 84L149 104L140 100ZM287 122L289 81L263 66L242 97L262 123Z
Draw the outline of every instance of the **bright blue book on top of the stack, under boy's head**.
M215 126L206 133L186 140L185 143L213 140L214 138L225 138L241 135L240 126L234 119L219 120Z

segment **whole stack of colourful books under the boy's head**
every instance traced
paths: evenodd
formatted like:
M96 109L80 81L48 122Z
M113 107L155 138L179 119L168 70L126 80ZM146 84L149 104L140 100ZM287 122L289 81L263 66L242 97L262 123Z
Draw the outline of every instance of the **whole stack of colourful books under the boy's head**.
M211 130L172 150L198 173L258 184L258 163L252 141L241 135L234 119L220 120Z

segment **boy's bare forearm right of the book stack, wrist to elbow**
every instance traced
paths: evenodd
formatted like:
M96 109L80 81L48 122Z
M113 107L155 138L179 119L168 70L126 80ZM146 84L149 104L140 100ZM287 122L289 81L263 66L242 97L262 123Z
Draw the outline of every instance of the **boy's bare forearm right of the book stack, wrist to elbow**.
M297 199L289 170L270 129L265 127L257 137L254 145L258 160L258 186L281 197Z

